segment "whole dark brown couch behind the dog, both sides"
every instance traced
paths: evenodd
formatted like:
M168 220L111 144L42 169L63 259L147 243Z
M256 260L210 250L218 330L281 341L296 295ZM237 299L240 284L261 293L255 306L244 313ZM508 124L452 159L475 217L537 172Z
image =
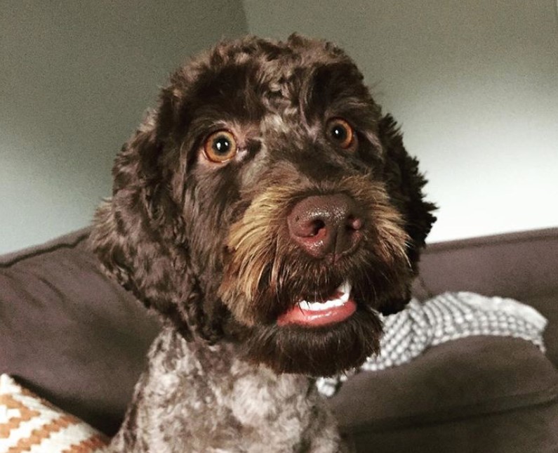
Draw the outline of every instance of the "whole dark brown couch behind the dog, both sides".
M107 279L79 230L0 257L0 373L107 435L159 330ZM414 294L474 291L547 317L532 343L471 336L361 372L328 400L357 451L558 452L558 228L430 244Z

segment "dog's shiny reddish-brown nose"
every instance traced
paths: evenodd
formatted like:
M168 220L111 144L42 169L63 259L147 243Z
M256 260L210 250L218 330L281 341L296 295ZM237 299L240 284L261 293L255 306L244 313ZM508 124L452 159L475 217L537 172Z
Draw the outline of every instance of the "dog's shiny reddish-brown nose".
M337 258L350 251L361 239L363 226L357 204L345 194L302 199L287 223L291 238L314 258Z

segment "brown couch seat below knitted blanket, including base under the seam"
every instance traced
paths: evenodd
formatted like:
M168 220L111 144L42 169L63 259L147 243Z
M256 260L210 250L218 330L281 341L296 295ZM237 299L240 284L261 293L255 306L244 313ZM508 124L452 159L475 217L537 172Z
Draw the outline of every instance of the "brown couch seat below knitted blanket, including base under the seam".
M531 343L477 336L354 376L330 404L359 452L554 453L557 376Z

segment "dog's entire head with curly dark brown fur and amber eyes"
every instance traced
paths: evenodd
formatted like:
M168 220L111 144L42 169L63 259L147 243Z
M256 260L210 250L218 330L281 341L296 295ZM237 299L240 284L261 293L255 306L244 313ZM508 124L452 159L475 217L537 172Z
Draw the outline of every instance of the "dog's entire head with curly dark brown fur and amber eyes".
M293 36L220 44L171 77L124 146L93 248L190 337L277 372L377 352L434 217L352 60Z

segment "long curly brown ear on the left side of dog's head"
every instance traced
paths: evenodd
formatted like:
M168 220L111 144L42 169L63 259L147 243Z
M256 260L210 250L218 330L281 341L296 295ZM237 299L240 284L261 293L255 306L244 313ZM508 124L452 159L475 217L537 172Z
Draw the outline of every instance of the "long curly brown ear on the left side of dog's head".
M212 333L198 300L180 195L174 193L185 159L161 124L173 121L172 96L163 91L159 110L148 114L117 156L112 198L95 214L90 244L109 276L187 339L192 330L208 338Z

